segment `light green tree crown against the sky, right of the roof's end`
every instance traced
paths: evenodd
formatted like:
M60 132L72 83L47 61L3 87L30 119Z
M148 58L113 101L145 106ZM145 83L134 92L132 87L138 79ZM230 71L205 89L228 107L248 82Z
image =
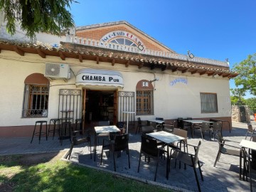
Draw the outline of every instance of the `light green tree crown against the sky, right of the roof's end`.
M233 70L240 73L234 79L235 85L242 85L243 90L248 90L252 95L256 95L256 53L248 55L247 59L235 64Z

